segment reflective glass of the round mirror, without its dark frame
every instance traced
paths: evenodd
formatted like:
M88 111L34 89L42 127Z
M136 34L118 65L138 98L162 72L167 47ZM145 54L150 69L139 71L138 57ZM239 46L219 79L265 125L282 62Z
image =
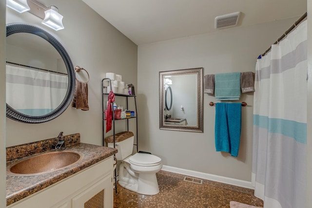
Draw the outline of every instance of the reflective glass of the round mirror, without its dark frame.
M40 116L63 101L68 77L58 51L27 33L6 38L6 103L20 113Z

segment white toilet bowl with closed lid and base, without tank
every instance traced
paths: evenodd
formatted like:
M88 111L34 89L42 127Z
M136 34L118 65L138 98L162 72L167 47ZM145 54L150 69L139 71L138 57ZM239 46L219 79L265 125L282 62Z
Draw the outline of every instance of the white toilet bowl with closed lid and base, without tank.
M119 167L119 185L145 195L159 192L156 172L161 170L161 159L152 154L136 153L125 158Z

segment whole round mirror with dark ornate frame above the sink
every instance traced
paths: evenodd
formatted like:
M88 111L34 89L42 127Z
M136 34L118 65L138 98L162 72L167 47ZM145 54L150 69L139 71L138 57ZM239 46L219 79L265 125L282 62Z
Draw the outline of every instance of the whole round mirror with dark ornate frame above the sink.
M24 123L52 120L75 89L72 61L59 41L29 24L6 26L6 115Z

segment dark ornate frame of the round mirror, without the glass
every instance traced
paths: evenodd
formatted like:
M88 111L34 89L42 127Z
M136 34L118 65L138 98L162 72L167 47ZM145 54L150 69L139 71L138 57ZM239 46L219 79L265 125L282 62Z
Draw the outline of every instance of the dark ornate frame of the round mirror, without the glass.
M58 108L56 108L54 111L50 113L40 116L26 115L16 111L11 106L6 104L6 116L13 120L20 121L23 123L43 123L46 121L50 121L58 117L61 113L63 113L73 99L75 90L75 73L74 73L75 71L72 60L70 59L65 48L59 43L59 41L52 35L50 35L48 32L42 30L39 27L30 24L20 24L20 23L8 24L6 26L6 37L15 33L30 33L39 36L48 41L59 52L59 55L62 57L67 69L68 88L62 103L59 105Z

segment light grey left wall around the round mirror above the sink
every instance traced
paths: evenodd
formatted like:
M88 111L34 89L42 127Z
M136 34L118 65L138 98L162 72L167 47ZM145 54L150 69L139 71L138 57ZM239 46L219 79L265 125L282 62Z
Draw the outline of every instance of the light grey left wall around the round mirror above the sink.
M7 118L6 146L53 138L61 131L65 135L80 133L82 142L101 145L101 80L106 72L115 72L122 75L123 81L133 83L137 87L137 45L81 0L40 0L40 2L59 8L59 13L64 16L64 30L51 30L40 23L41 19L30 13L18 14L9 8L7 23L26 22L37 25L59 39L74 66L83 67L90 75L88 83L90 110L81 111L70 106L56 119L41 124L24 124Z

